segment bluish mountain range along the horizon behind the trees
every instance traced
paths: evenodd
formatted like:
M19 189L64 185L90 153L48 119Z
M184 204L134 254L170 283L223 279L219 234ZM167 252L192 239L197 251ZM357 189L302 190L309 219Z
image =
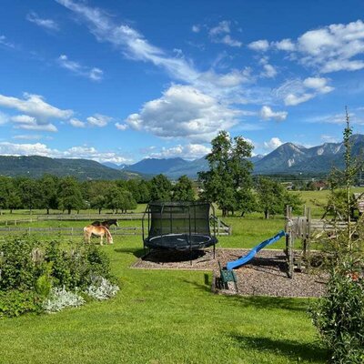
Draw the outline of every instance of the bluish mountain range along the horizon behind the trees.
M351 136L353 157L363 155L364 136ZM325 143L317 147L302 147L285 143L266 156L251 157L254 174L325 174L332 167L344 167L343 143ZM42 177L45 173L87 179L150 178L164 174L177 179L180 176L196 178L197 172L208 169L205 157L192 161L182 158L146 158L134 165L100 164L88 159L50 158L40 156L0 156L0 176Z

